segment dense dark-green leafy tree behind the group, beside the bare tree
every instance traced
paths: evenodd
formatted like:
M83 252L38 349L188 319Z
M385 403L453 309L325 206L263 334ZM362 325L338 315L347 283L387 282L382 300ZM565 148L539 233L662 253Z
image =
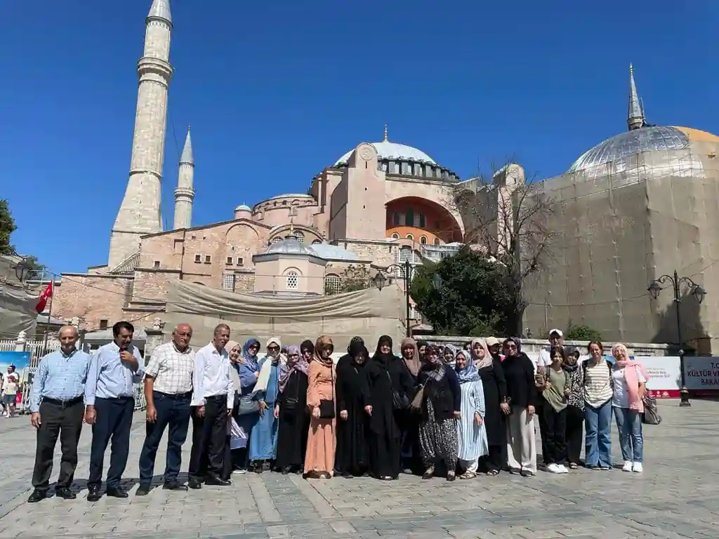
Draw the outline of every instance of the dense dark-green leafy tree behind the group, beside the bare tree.
M516 305L506 267L467 247L454 257L418 267L410 291L436 333L514 333Z

